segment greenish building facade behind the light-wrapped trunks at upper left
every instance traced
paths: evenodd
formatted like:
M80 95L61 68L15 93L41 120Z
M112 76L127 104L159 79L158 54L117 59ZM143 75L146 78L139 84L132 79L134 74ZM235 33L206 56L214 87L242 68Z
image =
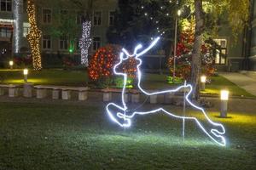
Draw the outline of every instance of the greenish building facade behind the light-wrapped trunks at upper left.
M79 4L69 1L35 1L38 27L43 32L41 38L43 57L44 54L80 53L79 38L82 31L82 19L88 10L90 10L89 17L92 25L90 36L93 41L90 54L107 43L106 33L108 27L113 25L117 1L93 0L90 7L89 1L80 0ZM1 58L28 53L26 35L30 30L30 25L26 14L26 0L0 0L0 5ZM69 20L69 26L65 27L61 16ZM61 36L60 32L70 32L70 34ZM70 37L68 38L71 34L73 34L73 41L70 41Z

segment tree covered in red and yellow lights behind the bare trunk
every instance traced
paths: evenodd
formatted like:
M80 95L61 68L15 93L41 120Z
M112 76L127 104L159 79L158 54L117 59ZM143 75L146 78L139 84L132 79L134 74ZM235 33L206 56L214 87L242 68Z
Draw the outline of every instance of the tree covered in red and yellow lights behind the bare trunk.
M184 22L183 25L183 31L180 34L179 42L177 42L177 68L175 74L176 77L189 80L191 77L192 48L195 42L195 21L190 20L190 22ZM201 71L208 77L214 73L212 50L215 45L216 42L211 40L206 40L201 45ZM173 56L168 59L167 65L172 75Z

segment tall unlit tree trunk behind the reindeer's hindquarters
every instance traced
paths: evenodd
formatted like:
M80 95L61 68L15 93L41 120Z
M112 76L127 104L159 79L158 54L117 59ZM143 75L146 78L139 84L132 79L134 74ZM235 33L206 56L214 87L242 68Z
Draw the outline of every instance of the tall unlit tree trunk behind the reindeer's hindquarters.
M194 87L193 99L200 99L200 77L201 77L201 33L203 31L203 9L202 0L195 0L195 42L192 51L191 82Z

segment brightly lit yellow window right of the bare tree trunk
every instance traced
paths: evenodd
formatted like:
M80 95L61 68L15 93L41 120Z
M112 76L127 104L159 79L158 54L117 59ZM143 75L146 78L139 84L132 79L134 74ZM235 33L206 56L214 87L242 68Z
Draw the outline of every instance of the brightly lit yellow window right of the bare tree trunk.
M218 48L213 50L215 56L214 63L217 65L225 65L227 58L227 40L214 39L214 42L218 44Z

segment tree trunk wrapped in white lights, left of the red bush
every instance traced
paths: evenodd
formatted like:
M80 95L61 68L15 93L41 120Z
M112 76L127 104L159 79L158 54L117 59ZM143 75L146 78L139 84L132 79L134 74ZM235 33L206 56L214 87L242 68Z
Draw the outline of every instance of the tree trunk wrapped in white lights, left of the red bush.
M81 65L88 66L88 50L92 42L90 38L91 21L83 22L82 38L79 41L79 48L81 49Z

